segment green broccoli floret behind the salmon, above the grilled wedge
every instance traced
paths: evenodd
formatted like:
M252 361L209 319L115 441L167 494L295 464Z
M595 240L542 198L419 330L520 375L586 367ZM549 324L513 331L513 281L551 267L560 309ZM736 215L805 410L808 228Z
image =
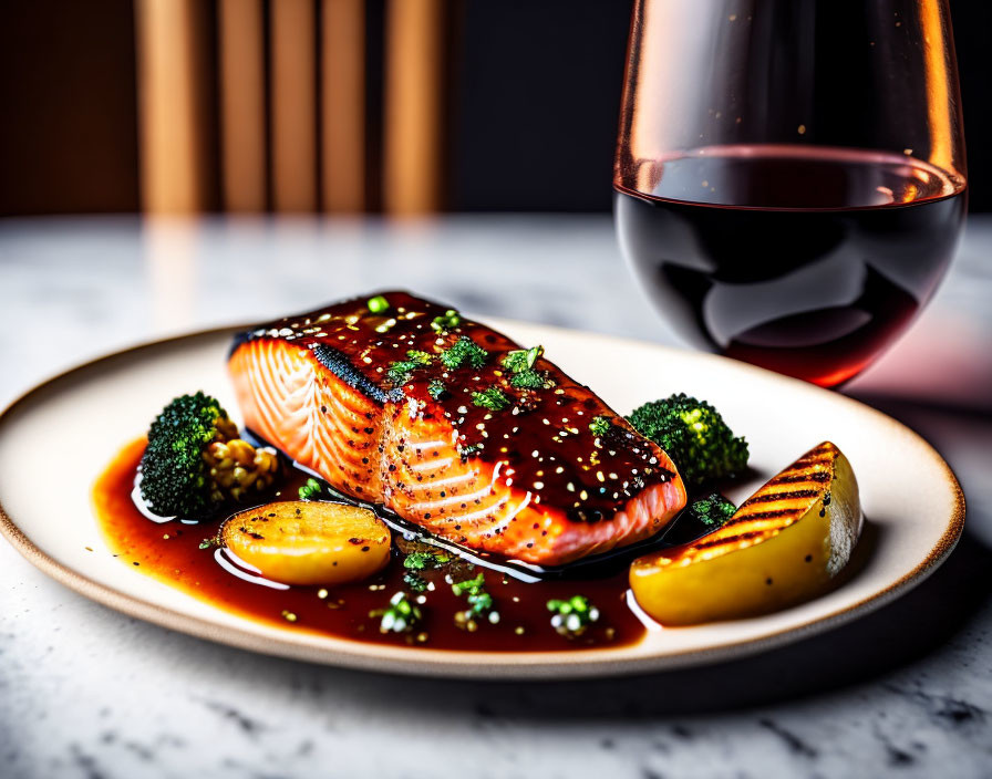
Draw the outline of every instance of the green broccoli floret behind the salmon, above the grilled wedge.
M685 394L645 403L627 417L664 449L690 486L722 479L747 466L747 442L737 438L713 406Z

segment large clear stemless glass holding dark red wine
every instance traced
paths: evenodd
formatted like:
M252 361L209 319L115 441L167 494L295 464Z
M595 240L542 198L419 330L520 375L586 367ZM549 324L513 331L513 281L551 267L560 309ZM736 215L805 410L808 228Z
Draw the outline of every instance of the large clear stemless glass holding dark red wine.
M638 0L620 245L681 335L822 386L933 294L967 206L946 0Z

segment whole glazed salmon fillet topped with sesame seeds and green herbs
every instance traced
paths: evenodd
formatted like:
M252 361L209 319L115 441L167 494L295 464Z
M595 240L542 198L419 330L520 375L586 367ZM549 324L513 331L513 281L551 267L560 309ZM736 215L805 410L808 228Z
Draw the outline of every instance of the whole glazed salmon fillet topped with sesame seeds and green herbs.
M250 430L476 552L560 565L685 506L669 456L540 350L406 292L240 333L228 366Z

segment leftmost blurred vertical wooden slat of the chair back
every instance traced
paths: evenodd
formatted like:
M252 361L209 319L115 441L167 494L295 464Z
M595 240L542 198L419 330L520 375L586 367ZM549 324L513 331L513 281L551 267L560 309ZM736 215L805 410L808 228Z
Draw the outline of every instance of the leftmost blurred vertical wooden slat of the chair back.
M207 207L206 12L200 0L136 0L142 205Z

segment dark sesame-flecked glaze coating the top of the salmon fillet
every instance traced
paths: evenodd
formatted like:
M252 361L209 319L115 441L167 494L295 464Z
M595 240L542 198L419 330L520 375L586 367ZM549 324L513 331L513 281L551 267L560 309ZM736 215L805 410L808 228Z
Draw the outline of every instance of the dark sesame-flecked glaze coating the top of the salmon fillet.
M644 487L673 477L657 446L554 363L539 357L533 366L554 386L512 386L512 374L500 361L519 344L466 319L451 332L438 333L431 323L446 307L406 292L381 294L390 303L382 313L371 313L366 298L343 301L242 333L232 351L256 339L283 339L311 350L324 367L376 403L394 402L394 413L405 414L407 404L416 402L425 419L444 418L452 425L463 453L499 463L507 485L530 494L535 506L561 510L571 521L609 521ZM392 385L389 367L405 360L407 350L437 355L461 336L490 353L485 365L446 370L434 364L412 372L405 384ZM446 395L432 397L431 380L443 381ZM488 387L498 387L510 405L503 411L475 405L473 393ZM590 429L597 416L611 423L602 436Z

